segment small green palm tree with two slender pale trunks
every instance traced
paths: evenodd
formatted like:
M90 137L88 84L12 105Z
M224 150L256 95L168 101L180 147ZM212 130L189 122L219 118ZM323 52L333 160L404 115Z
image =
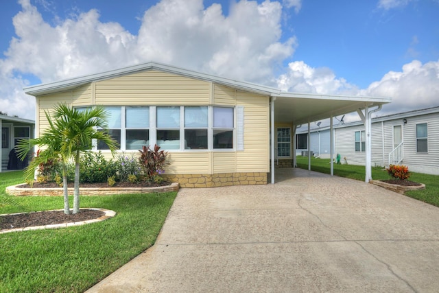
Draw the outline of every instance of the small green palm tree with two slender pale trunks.
M45 156L54 154L62 161L63 166L63 182L64 182L64 213L66 209L65 194L67 194L67 172L64 177L64 167L67 170L67 162L73 159L75 162L75 179L73 191L73 213L80 211L80 155L81 153L91 150L93 139L104 141L108 145L111 153L114 154L117 150L117 142L110 137L107 132L108 124L106 119L108 113L101 106L87 108L80 111L71 108L66 104L58 104L54 109L54 121L51 121L50 116L46 113L49 121L49 128L43 133L41 137L34 140L29 140L29 145L36 145L40 142L47 146ZM49 134L47 134L49 133ZM47 134L47 137L45 137ZM58 135L54 138L53 135ZM43 140L42 138L46 140ZM38 141L41 139L40 141ZM33 144L35 143L35 144ZM21 145L25 142L21 142ZM29 145L27 149L29 150ZM24 152L23 152L24 153ZM20 153L21 154L21 153ZM27 153L26 153L27 154ZM21 155L22 157L25 156ZM42 159L45 157L43 156ZM36 160L38 161L38 160ZM32 162L31 162L32 163ZM35 167L36 163L34 165ZM29 165L29 167L31 166ZM67 205L68 205L67 201Z

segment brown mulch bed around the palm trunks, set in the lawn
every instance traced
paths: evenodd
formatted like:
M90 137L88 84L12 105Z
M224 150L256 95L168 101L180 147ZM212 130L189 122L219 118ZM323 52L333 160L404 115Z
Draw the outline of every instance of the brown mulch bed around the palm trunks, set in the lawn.
M66 215L64 211L38 211L19 213L16 215L0 216L1 230L10 228L25 228L29 226L45 226L49 224L63 224L93 220L105 215L103 211L95 209L81 209L74 215Z

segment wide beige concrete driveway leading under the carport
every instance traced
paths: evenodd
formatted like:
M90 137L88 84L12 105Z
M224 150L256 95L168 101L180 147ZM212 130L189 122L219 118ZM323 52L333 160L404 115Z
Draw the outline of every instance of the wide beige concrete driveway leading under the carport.
M438 292L439 209L303 169L180 189L156 244L88 292Z

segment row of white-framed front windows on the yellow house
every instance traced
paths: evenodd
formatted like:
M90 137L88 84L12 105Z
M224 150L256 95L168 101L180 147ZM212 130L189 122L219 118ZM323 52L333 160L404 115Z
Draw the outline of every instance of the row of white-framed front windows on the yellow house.
M154 143L163 150L235 148L234 107L108 106L105 110L108 134L121 150L140 150ZM102 141L94 145L108 150Z

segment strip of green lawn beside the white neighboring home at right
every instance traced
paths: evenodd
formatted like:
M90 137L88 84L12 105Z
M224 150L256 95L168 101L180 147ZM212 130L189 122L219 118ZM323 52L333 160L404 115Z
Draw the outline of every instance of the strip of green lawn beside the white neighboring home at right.
M297 166L302 169L308 169L308 157L297 156ZM321 173L331 173L331 160L329 159L316 159L311 157L311 170ZM409 170L410 171L410 170ZM364 166L359 165L337 165L334 164L334 175L340 177L346 177L356 180L364 181L365 178ZM372 167L372 179L373 180L385 180L390 179L387 171L383 167ZM406 196L416 198L423 202L433 204L439 207L439 176L412 173L410 179L414 182L424 183L425 189L416 191L405 192Z

